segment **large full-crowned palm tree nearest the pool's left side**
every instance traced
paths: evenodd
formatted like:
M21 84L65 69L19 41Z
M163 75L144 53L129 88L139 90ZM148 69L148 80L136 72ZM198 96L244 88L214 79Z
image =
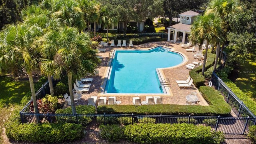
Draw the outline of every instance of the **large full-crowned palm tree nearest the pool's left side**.
M53 60L48 60L45 65L50 65L50 68L54 70L56 79L67 74L72 113L76 114L72 78L79 79L86 76L88 72L95 72L99 64L97 52L90 48L90 35L88 33L78 34L77 28L64 27L49 32L46 36L46 44L56 49L54 50L56 53Z

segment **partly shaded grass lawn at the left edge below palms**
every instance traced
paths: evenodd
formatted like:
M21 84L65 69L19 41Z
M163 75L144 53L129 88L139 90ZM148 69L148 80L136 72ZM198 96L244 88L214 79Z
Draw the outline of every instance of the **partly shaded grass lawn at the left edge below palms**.
M28 81L14 81L12 78L0 77L0 144L4 144L2 128L10 113L19 109L20 100L30 90Z

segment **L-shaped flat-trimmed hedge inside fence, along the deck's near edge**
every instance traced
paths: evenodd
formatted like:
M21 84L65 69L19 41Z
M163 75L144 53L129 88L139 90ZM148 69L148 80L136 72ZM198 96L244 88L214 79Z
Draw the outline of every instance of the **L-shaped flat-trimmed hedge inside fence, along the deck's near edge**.
M196 116L226 116L230 114L231 108L224 101L224 97L208 86L201 86L200 92L209 106L200 105L176 105L176 104L156 104L156 105L102 105L98 106L97 112L103 114L163 114L163 115L196 115Z

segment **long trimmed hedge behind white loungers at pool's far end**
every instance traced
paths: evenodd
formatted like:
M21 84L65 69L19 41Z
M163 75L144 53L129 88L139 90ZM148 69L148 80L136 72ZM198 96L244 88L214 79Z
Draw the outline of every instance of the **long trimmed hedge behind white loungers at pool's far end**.
M142 36L140 38L124 38L124 39L114 39L115 44L118 43L118 40L121 40L121 43L123 43L123 40L126 40L126 43L129 43L130 40L132 40L132 44L144 44L147 42L160 42L160 41L166 41L167 38L161 38L160 36Z

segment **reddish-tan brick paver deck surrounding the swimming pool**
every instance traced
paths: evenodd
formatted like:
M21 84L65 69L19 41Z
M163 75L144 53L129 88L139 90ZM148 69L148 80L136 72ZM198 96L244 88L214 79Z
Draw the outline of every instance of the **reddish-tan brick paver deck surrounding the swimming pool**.
M134 45L133 48L120 48L118 49L149 49L155 46L166 46L169 48L174 49L177 52L181 52L185 54L188 58L188 62L186 64L192 63L194 61L196 62L201 62L198 61L197 59L194 59L192 52L186 52L186 48L182 48L181 44L174 44L172 42L149 42L146 44L141 44L141 45ZM104 77L106 75L106 70L107 70L107 65L109 61L109 53L113 50L116 49L116 47L108 47L106 48L106 52L100 52L100 55L103 57L102 58L102 63L99 66L99 74L98 76L94 76L94 81L91 84L90 91L88 94L83 94L82 95L82 100L79 102L79 104L88 104L87 99L90 96L102 96L100 93L100 86L104 80ZM198 49L197 49L198 51ZM186 104L186 96L190 94L192 91L197 92L198 94L198 104L207 106L208 103L204 100L200 92L194 87L192 90L191 89L180 89L178 87L178 84L176 83L175 80L186 80L189 75L189 70L186 69L185 65L183 64L182 66L176 67L176 68L168 68L168 69L163 69L162 72L164 73L165 78L169 78L170 80L170 91L171 95L170 96L162 96L163 98L163 104L179 104L179 105L185 105ZM106 78L105 78L106 79ZM135 95L134 95L135 97ZM108 97L107 97L108 98ZM140 96L141 101L145 101L146 97L145 96ZM120 100L122 103L121 104L132 104L132 96L116 96L116 100Z

